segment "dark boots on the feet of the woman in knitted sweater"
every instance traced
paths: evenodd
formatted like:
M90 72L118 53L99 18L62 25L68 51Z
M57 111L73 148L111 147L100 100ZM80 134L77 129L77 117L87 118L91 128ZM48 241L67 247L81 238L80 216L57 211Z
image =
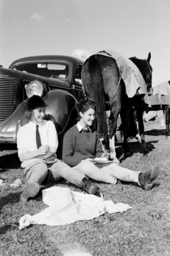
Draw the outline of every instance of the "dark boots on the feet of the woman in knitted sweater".
M151 170L148 170L145 173L139 173L139 176L138 176L139 185L145 191L149 191L153 187L152 182L158 177L158 175L159 175L159 165L155 164Z

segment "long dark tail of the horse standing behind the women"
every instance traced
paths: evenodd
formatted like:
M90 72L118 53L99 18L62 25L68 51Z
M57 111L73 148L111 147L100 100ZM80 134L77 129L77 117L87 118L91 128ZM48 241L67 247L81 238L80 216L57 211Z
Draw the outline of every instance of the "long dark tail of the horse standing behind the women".
M94 101L97 107L97 119L101 135L106 140L106 148L109 149L108 129L105 111L105 91L103 86L102 72L95 56L88 61L88 72L90 75L90 86L94 89Z

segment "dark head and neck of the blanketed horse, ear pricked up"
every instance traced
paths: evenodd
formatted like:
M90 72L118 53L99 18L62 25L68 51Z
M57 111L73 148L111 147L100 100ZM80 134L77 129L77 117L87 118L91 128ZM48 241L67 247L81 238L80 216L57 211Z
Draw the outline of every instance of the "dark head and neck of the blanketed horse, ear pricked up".
M135 65L139 68L147 86L147 93L149 96L152 95L152 67L150 65L151 53L148 54L147 60L140 60L136 57L132 57L129 59L132 60L133 63L135 63Z

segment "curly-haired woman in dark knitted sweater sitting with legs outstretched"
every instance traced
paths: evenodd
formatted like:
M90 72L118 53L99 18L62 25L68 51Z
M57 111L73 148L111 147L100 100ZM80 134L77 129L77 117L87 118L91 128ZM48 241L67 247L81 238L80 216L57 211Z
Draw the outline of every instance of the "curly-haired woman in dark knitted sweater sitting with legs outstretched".
M63 161L79 173L93 180L116 184L117 179L135 182L145 191L152 188L152 182L158 177L159 166L155 164L145 173L132 171L116 163L98 163L91 160L105 157L99 136L90 128L95 119L95 105L91 101L81 100L78 104L79 121L64 136Z

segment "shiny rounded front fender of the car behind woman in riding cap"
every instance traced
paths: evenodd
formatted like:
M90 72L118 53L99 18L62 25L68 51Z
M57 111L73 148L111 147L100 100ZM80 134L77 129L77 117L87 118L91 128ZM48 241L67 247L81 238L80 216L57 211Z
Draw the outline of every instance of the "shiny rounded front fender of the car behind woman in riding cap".
M15 143L17 122L21 121L22 125L29 123L29 119L25 116L27 100L20 103L11 116L0 124L1 143L7 143L7 141L8 143ZM76 99L67 91L56 89L49 91L44 100L49 105L46 107L44 119L53 121L60 136L75 124Z

